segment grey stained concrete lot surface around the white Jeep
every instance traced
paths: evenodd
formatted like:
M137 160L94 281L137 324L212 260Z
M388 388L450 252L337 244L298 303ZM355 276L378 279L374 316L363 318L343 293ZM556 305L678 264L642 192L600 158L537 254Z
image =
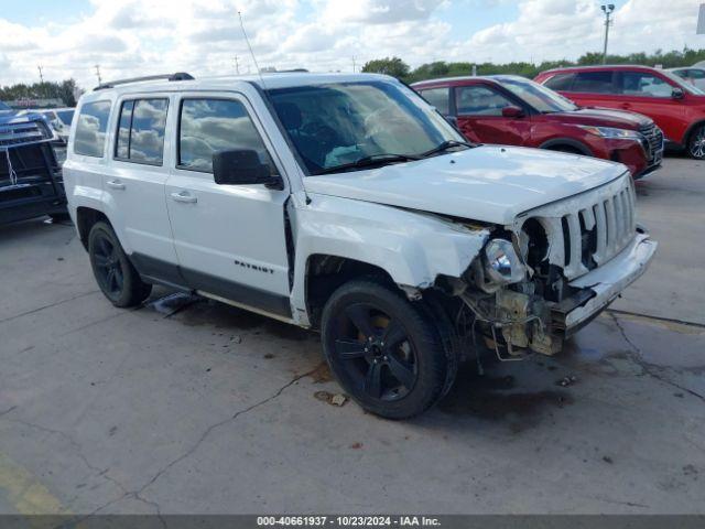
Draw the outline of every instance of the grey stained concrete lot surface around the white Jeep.
M0 227L0 512L703 512L705 163L638 194L661 246L611 311L406 422L329 403L314 334L115 309L72 226Z

